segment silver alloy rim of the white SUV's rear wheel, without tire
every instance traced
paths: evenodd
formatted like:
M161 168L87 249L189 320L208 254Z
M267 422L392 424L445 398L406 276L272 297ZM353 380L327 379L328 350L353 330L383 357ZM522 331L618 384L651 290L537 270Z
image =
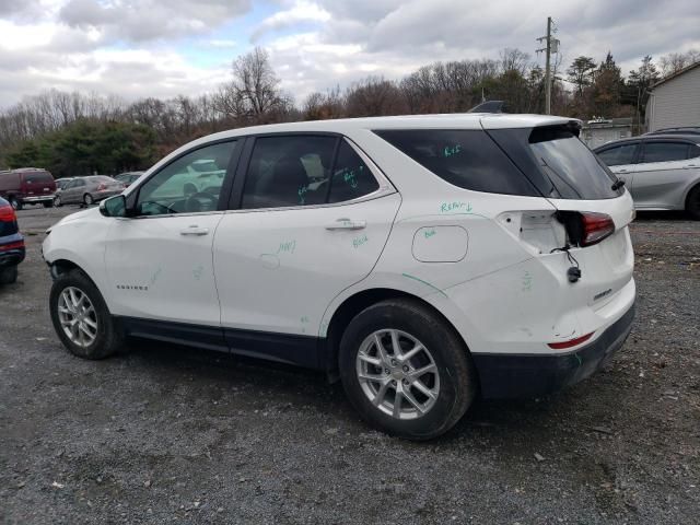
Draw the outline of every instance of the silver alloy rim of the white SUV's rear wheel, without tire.
M382 329L366 337L355 372L370 402L396 419L423 417L440 394L440 373L432 354L401 330Z

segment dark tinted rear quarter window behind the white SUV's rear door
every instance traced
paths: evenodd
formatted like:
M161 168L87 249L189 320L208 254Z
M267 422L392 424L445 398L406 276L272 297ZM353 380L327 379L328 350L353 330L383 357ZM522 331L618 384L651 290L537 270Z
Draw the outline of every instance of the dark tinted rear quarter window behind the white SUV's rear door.
M443 180L460 188L537 195L527 178L483 131L421 129L375 133Z

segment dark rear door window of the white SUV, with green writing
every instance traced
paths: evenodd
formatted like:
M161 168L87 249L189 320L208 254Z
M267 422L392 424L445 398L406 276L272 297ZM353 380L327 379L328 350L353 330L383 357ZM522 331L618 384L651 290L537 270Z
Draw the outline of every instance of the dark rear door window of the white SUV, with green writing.
M345 202L378 187L370 168L345 139L262 137L256 139L250 155L242 208Z

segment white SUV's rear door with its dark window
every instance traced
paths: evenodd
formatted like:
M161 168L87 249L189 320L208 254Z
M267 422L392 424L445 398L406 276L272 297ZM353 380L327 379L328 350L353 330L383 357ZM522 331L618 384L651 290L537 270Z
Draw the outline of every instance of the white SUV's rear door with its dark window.
M337 136L257 137L246 149L214 238L221 322L234 351L315 365L281 340L258 346L259 334L317 336L331 300L376 264L400 197Z

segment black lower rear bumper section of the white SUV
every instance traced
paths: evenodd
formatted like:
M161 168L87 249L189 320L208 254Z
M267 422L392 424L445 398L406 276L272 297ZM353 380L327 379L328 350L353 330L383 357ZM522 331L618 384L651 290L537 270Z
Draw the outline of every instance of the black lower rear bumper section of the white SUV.
M634 303L595 341L560 355L472 354L485 398L535 397L579 383L598 370L625 343Z

